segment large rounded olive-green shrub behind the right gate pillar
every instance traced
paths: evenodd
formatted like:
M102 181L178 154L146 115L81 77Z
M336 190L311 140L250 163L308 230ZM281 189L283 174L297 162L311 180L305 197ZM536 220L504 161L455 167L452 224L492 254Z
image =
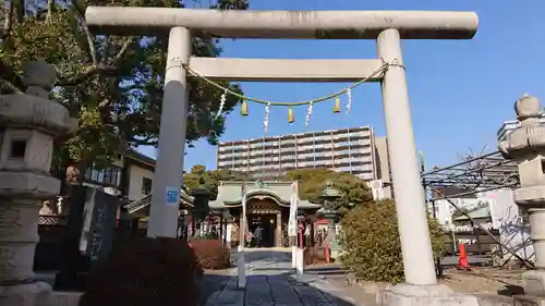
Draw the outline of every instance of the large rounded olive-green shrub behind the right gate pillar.
M432 247L439 255L445 235L435 219L428 218ZM404 280L396 204L372 201L348 212L341 220L340 260L365 281L399 283Z

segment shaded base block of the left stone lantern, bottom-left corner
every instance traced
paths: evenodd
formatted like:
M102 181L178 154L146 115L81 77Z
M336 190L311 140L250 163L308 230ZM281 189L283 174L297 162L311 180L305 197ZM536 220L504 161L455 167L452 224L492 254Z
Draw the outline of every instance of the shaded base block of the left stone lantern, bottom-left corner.
M0 306L48 306L51 291L44 282L0 286Z

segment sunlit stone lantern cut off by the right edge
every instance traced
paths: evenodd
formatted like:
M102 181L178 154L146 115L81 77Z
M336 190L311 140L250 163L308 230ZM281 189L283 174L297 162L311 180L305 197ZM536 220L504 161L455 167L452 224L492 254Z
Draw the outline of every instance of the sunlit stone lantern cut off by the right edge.
M518 161L520 187L514 201L526 210L535 253L536 270L523 273L524 292L545 297L545 124L537 98L524 94L514 103L520 126L499 143L504 157Z

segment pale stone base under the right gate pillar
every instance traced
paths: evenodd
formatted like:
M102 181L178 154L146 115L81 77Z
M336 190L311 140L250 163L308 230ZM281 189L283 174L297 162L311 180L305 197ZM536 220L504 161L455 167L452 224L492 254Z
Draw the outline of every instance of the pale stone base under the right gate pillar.
M443 284L398 284L376 295L378 306L479 306L475 296L453 293Z

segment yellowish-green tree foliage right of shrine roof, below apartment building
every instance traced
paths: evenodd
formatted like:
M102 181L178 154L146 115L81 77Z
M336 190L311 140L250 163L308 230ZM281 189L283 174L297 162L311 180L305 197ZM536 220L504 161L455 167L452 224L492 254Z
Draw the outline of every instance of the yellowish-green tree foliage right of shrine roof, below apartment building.
M348 208L371 200L372 196L367 183L349 173L336 172L329 169L300 169L293 170L283 178L288 181L299 181L299 195L302 199L312 203L322 203L324 184L330 181L341 192L341 198L336 201L341 212Z

